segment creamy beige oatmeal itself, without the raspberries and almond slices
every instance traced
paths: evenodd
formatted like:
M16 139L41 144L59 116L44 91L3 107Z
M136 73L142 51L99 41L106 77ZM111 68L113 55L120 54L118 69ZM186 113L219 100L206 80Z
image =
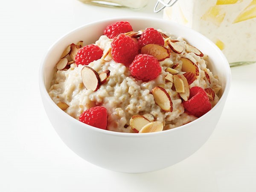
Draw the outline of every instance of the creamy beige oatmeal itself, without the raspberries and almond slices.
M182 38L177 39L180 41L179 45L185 48L186 42ZM104 50L105 53L111 47L111 41L107 36L102 35L96 41L96 45ZM96 72L101 73L107 69L111 71L107 81L100 85L95 92L86 90L84 87L81 79L81 70L84 66L71 64L69 69L56 71L48 91L49 96L56 104L58 102L67 103L69 107L65 112L75 119L79 119L80 114L91 107L104 106L108 110L107 130L110 131L133 133L129 126L131 117L145 113L151 113L154 115L155 121L163 122L164 130L176 128L197 119L195 116L184 113L182 100L173 89L173 83L164 79L169 74L165 72L165 69L177 63L179 65L175 69L180 74L185 73L181 70L182 61L180 61L180 56L189 58L198 65L199 76L189 87L212 88L215 92L215 99L211 101L213 107L219 100L217 94L221 89L218 79L207 69L207 61L195 55L195 53L187 53L185 51L182 54L172 52L170 58L161 61L162 72L156 79L148 82L143 82L130 76L129 68L124 64L116 63L113 59L109 61L102 59L93 61L88 66L92 67ZM205 70L209 74L211 83L206 79ZM164 112L156 105L154 97L150 93L156 86L163 87L169 93L173 103L172 112Z

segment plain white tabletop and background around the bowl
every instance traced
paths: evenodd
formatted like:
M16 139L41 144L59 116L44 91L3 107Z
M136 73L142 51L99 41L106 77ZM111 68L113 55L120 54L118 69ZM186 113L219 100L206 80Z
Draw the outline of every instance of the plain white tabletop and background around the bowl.
M252 192L256 191L256 64L232 68L221 119L191 157L157 172L123 174L87 163L60 140L38 90L38 67L60 36L115 16L152 16L88 6L76 0L0 3L1 192Z

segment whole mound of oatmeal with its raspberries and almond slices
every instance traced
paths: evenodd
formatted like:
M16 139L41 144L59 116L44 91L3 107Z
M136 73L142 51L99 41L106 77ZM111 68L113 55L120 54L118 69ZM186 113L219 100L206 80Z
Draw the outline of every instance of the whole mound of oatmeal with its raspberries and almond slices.
M157 132L192 122L219 101L221 84L204 50L172 31L133 31L119 21L102 34L95 44L63 47L56 65L48 93L73 118L109 131Z

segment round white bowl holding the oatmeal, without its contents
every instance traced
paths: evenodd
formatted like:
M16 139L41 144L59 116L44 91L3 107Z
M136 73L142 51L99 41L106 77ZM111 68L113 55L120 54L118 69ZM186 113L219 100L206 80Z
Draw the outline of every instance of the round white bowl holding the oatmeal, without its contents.
M186 39L209 55L209 68L218 75L222 96L217 105L204 116L189 124L167 131L128 134L106 131L86 125L62 111L47 93L53 68L67 45L83 40L92 44L105 27L128 20L135 31L154 27ZM60 38L45 55L40 67L40 91L45 111L63 142L90 163L118 172L151 172L171 166L197 151L214 130L230 90L231 73L227 59L215 44L187 27L166 20L125 17L86 24Z

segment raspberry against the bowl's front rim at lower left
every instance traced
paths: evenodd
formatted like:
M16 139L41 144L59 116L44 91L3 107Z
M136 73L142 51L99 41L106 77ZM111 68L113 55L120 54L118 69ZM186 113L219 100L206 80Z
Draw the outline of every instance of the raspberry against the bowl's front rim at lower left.
M97 106L84 111L80 115L79 121L96 128L106 129L107 116L107 109L104 107Z

